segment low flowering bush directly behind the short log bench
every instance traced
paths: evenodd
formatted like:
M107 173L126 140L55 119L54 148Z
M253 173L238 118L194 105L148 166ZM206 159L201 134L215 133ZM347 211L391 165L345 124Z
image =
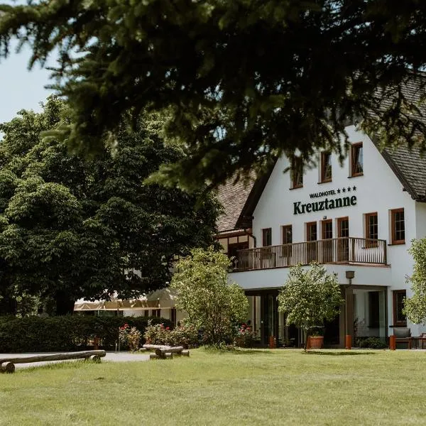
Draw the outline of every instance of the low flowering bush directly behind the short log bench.
M186 324L180 324L175 329L171 329L165 327L164 324L153 325L148 322L143 337L148 344L165 344L188 348L196 346L198 343L197 329Z

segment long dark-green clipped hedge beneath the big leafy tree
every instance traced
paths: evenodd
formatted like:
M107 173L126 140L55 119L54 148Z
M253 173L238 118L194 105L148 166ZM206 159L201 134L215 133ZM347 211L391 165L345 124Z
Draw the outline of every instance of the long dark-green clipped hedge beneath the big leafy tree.
M158 317L0 317L0 353L93 349L94 336L101 339L101 349L114 350L119 327L129 324L143 334L148 320L153 324L163 323L165 327L172 325Z

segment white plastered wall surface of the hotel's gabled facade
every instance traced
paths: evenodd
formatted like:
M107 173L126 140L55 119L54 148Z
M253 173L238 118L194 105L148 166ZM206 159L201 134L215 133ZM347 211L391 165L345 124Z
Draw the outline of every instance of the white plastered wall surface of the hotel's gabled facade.
M368 136L356 131L354 126L346 129L351 143L362 142L364 150L364 175L349 178L349 158L339 164L337 155L332 154L332 182L318 183L320 180L319 167L305 170L303 187L290 190L290 173L283 173L288 168L287 158L281 158L275 165L271 178L261 195L253 214L253 234L256 236L258 246L262 245L262 229L272 228L272 244L282 244L281 229L283 225L293 225L293 243L306 241L306 222L317 222L318 239L321 239L320 221L326 216L333 219L333 237L337 237L338 217L349 217L349 236L365 237L364 214L377 212L378 238L391 241L390 210L404 208L405 212L405 244L387 245L388 264L391 268L337 266L332 265L333 271L339 273L339 282L347 283L344 271L356 271L354 283L358 285L386 285L389 290L406 288L410 295L409 285L406 283L407 275L413 269L413 258L408 254L410 241L416 237L426 236L426 204L415 202L408 192L403 190L400 180L394 175L391 168L384 160L381 153L374 146ZM347 188L351 192L347 192ZM354 190L356 187L356 190ZM346 192L337 194L337 190L346 188ZM325 200L326 197L310 198L310 194L336 191L336 195L327 198L334 199L347 195L356 196L356 205L322 212L294 214L294 202L315 202ZM268 288L280 287L285 282L288 269L279 268L268 271L250 271L232 274L232 279L243 288ZM388 292L388 323L393 323L392 318L392 292Z

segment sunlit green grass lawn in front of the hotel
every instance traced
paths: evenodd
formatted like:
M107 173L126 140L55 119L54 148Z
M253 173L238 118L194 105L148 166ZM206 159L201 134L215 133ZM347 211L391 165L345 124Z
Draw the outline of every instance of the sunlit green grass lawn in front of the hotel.
M426 425L423 351L191 351L0 376L0 425Z

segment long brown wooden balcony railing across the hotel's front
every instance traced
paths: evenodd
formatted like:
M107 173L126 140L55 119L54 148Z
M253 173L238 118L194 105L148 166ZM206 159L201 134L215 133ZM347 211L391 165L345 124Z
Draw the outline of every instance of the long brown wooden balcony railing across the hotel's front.
M348 237L239 250L234 271L287 268L312 261L386 265L386 240Z

